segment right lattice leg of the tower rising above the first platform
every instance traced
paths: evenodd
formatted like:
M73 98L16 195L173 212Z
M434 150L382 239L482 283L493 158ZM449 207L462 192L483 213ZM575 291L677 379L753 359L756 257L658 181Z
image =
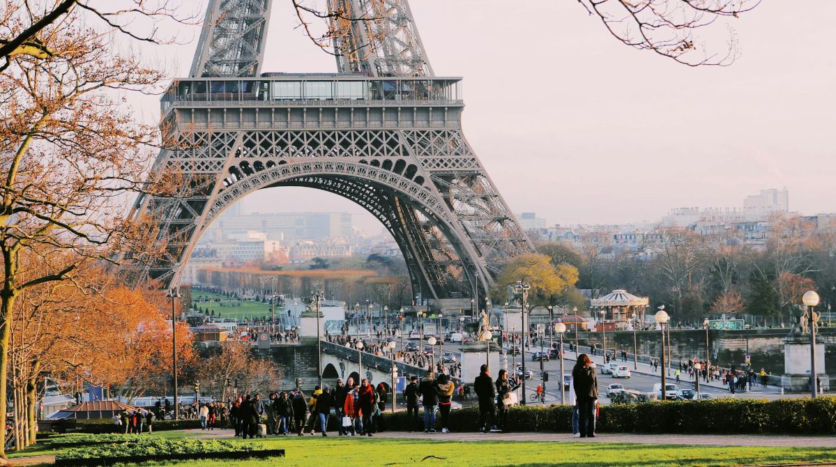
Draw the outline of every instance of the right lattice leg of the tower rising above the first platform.
M407 0L329 0L341 73L434 76Z

